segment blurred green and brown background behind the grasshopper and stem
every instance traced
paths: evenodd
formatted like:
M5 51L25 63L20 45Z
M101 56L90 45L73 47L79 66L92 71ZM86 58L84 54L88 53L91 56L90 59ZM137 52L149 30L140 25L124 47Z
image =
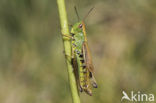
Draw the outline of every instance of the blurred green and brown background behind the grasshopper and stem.
M98 88L82 103L156 94L156 1L66 0L86 19ZM55 0L0 0L0 103L71 103ZM125 102L127 103L127 101Z

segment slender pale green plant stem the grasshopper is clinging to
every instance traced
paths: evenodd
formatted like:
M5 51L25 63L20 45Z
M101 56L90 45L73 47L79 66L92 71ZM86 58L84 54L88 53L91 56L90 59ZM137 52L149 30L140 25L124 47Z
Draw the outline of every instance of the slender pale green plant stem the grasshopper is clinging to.
M58 10L59 10L59 16L60 16L61 32L64 35L69 35L68 21L67 21L67 14L66 14L64 0L57 0L57 5L58 5ZM64 38L63 35L62 37ZM63 39L63 43L64 43L65 54L71 57L70 40ZM71 59L66 59L66 63L68 67L68 77L69 77L73 103L80 103L80 98L79 98L79 94L78 94L78 90L76 86L76 80L75 80L75 76L74 76L74 72L73 72L73 68L71 64Z

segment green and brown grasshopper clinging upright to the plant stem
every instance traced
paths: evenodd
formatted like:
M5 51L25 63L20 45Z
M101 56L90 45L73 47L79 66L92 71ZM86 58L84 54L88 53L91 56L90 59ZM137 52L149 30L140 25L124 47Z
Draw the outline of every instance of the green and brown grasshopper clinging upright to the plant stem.
M90 11L92 11L92 9ZM75 23L71 28L71 45L72 65L77 81L77 87L80 92L84 91L91 96L92 87L97 88L97 83L93 76L94 67L92 64L90 50L88 48L85 24L83 20Z

